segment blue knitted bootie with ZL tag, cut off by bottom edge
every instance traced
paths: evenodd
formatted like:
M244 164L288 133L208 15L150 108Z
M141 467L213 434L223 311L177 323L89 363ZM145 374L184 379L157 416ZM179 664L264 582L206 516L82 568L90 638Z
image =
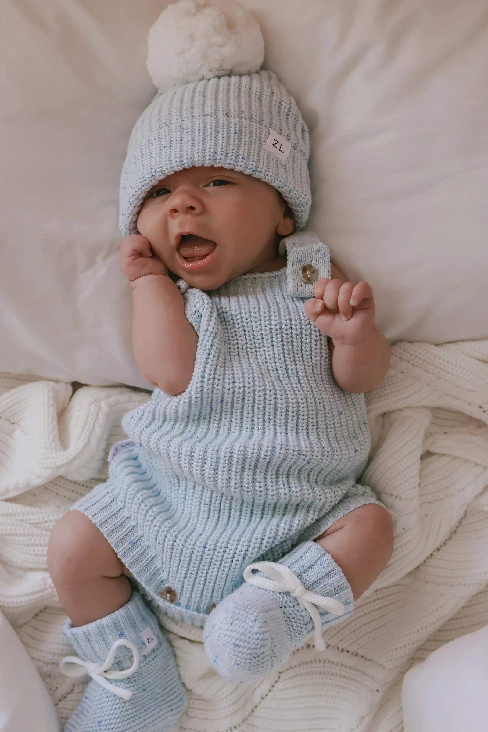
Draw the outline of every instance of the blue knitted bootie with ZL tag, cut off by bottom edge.
M173 649L140 594L132 594L122 608L93 623L73 627L68 620L65 634L80 658L64 658L62 673L89 673L93 681L64 732L169 732L178 728L186 694Z

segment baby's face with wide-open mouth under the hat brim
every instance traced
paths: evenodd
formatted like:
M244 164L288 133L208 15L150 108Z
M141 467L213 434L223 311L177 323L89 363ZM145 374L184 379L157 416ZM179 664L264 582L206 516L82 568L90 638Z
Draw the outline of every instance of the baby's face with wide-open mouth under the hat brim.
M138 216L138 231L154 254L200 290L266 269L277 258L277 235L287 236L293 227L293 214L274 187L204 165L160 180Z

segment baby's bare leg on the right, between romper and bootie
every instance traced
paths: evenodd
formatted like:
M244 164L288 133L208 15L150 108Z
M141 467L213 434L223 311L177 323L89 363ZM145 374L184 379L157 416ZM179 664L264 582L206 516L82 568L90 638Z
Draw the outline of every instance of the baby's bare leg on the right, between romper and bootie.
M315 540L339 564L357 600L388 564L393 522L385 508L367 504L339 518Z

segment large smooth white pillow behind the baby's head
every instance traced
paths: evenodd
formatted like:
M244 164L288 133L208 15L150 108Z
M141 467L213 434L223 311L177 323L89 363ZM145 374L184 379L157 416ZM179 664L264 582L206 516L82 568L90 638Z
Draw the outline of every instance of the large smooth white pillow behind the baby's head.
M488 337L484 0L243 0L309 125L307 228L391 341ZM2 0L0 371L151 389L118 185L165 0Z

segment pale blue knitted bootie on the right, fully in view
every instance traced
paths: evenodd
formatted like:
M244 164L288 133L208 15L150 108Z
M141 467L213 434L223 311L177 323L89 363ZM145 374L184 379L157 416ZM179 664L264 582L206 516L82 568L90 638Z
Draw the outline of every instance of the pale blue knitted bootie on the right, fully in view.
M252 569L260 571L252 574ZM303 542L278 562L249 564L244 579L219 602L203 630L206 654L228 681L263 679L314 627L315 647L323 650L320 626L334 624L353 610L353 593L342 569L315 542Z

